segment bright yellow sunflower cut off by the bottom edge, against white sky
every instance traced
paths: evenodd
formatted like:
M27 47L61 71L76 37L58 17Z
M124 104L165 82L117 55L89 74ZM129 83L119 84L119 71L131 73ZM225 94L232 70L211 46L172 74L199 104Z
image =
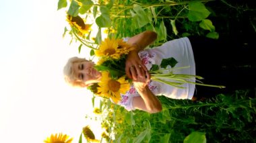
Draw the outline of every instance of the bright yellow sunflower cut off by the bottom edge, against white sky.
M51 137L47 138L46 140L44 140L45 143L71 143L73 138L68 139L69 136L67 136L66 134L51 134Z

